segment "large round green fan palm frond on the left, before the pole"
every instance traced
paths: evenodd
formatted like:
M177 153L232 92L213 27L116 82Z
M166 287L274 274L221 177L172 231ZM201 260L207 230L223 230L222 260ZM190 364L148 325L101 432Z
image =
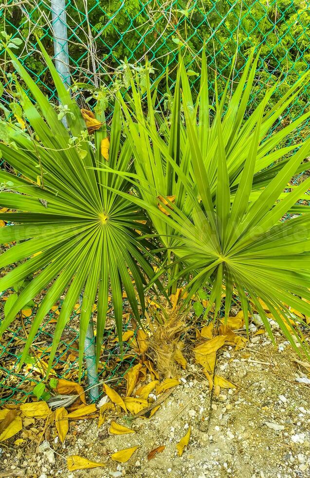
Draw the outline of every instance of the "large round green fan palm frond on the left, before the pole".
M109 144L104 114L96 119L87 110L81 113L41 44L40 47L69 128L64 126L55 107L8 50L34 101L16 81L25 128L20 127L22 119L19 124L12 120L0 123L0 151L19 173L0 171L0 205L14 211L1 214L1 219L12 225L0 228L0 240L13 245L1 255L0 267L16 264L1 277L0 290L11 288L25 278L32 279L2 320L0 335L24 305L47 288L23 350L22 364L46 314L65 293L55 327L50 370L62 331L83 291L79 331L81 369L86 331L96 297L97 363L110 291L120 343L123 288L140 320L137 296L143 311L145 278L154 275L148 260L151 245L144 240L137 241L136 229L146 232L141 223L144 216L137 211L130 196L124 199L106 188L109 184L115 191L128 192L131 187L128 180L91 169L107 159L117 171L129 172L132 168L129 142L121 141L120 106L115 104ZM94 133L94 145L86 126Z

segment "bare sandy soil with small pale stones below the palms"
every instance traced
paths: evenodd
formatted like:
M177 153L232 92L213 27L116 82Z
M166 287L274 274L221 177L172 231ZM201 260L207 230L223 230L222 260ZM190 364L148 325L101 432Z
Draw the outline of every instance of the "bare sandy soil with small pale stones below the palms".
M39 446L1 444L0 477L310 477L310 387L296 382L308 372L276 335L277 347L263 334L252 337L246 349L219 350L216 374L235 389L210 392L201 367L188 356L180 386L153 417L117 419L135 434L110 436L110 420L98 429L96 419L71 422L64 448L51 437ZM176 444L189 426L191 438L179 457ZM164 451L148 460L162 445ZM128 462L109 458L133 446L139 448ZM71 455L107 465L68 471Z

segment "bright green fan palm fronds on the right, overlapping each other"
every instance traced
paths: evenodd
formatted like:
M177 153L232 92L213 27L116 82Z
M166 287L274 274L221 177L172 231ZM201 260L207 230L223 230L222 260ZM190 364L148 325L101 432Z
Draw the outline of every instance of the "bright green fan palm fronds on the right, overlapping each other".
M268 137L267 133L309 74L273 107L268 102L277 85L267 89L265 98L246 115L256 64L257 58L251 56L230 98L230 80L221 101L215 81L214 109L209 102L205 56L196 104L180 60L170 123L154 111L149 91L144 115L141 95L132 80L135 119L122 101L135 157L136 174L131 180L140 193L140 198L134 199L136 204L148 211L164 247L173 253L172 266L179 268L174 268L170 283L189 278L187 300L207 285L211 294L206 312L215 304L215 316L224 284L225 317L235 293L246 327L252 304L272 336L261 305L265 302L294 345L292 332L297 334L288 320L297 320L292 309L310 316L310 214L282 219L292 211L310 212L295 205L298 199L308 198L310 178L285 192L292 177L308 168L304 160L310 154L310 140L281 144L310 112Z

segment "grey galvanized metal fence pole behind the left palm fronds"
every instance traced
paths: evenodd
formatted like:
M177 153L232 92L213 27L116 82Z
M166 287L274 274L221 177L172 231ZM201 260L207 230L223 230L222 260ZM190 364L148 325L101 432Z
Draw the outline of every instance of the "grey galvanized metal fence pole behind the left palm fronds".
M68 50L68 29L66 16L65 0L51 0L52 12L52 28L54 34L54 52L55 67L65 85L70 87L70 70L69 70L69 50ZM62 119L63 124L68 127L67 119ZM80 296L80 304L82 308L83 292ZM95 342L93 334L93 323L90 320L86 339L84 344L84 355L86 362L87 378L92 401L99 399L98 374L96 371L96 354Z

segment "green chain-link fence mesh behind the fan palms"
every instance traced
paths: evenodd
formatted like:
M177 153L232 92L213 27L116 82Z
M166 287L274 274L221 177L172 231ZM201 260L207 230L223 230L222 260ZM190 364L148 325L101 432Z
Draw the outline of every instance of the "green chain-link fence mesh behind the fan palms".
M210 71L217 71L219 78L225 80L233 67L232 85L237 82L250 49L256 48L260 59L252 102L259 99L269 83L280 78L273 98L275 101L310 65L310 1L68 0L66 14L73 81L97 89L109 86L115 79L126 86L128 69L139 73L139 65L146 58L152 62L154 80L168 65L172 84L181 50L192 75L194 90L200 78L204 41ZM5 0L0 7L0 32L5 31L23 40L17 50L18 56L49 98L55 96L55 89L37 51L36 37L53 56L51 20L50 2ZM3 62L3 52L0 61ZM210 78L212 88L212 76ZM160 92L164 101L165 84ZM274 128L302 115L309 99L310 91L305 86ZM292 136L291 142L310 136L309 125L308 120ZM30 321L31 317L25 318L26 329ZM40 357L44 358L52 334L52 328L38 332L36 352ZM57 376L66 374L70 377L77 369L76 360L68 363L68 355L74 356L78 339L75 315L66 334L54 369ZM19 323L0 345L0 404L1 400L23 399L31 390L29 383L39 379L36 364L24 368L20 374L16 371L24 340L24 330ZM115 359L115 353L116 349L109 349L106 364ZM117 377L124 370L119 362L115 362L112 368L107 367L103 368L102 374L108 370L111 376Z

